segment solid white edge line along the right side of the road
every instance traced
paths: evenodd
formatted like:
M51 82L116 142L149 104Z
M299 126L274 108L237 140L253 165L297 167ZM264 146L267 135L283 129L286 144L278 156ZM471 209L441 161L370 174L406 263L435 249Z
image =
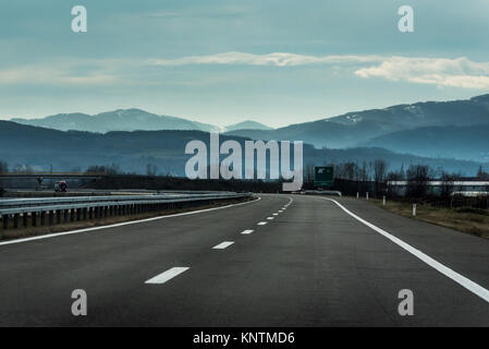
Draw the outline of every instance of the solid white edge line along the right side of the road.
M425 262L426 264L428 264L430 267L435 268L436 270L440 272L441 274L443 274L444 276L447 276L448 278L452 279L453 281L455 281L456 284L461 285L462 287L466 288L467 290L469 290L470 292L473 292L474 294L480 297L481 299L484 299L486 302L489 302L489 290L485 289L484 287L481 287L480 285L474 282L473 280L466 278L465 276L454 272L453 269L449 268L448 266L444 266L443 264L441 264L440 262L431 258L429 255L423 253L421 251L413 248L412 245L409 245L408 243L402 241L401 239L392 236L391 233L387 232L386 230L380 229L379 227L372 225L371 222L368 222L367 220L358 217L357 215L355 215L354 213L352 213L351 210L349 210L346 207L344 207L342 204L340 204L339 202L337 202L335 200L332 198L326 198L326 197L321 197L323 200L328 200L333 202L334 204L337 204L341 209L343 209L346 214L349 214L350 216L352 216L353 218L355 218L356 220L363 222L364 225L366 225L367 227L369 227L370 229L377 231L378 233L380 233L381 236L383 236L384 238L391 240L393 243L395 243L396 245L401 246L402 249L406 250L407 252L409 252L411 254L413 254L414 256L416 256L417 258L419 258L420 261Z

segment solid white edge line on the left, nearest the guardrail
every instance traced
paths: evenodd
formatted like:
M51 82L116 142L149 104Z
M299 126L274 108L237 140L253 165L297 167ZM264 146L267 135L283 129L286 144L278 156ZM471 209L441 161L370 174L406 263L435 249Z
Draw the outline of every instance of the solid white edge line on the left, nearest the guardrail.
M231 205L221 206L221 207L206 208L206 209L199 209L199 210L191 210L191 212L184 212L184 213L181 213L181 214L158 216L158 217L145 218L145 219L139 219L139 220L123 221L123 222L118 222L118 224L109 225L109 226L84 228L84 229L63 231L63 232L54 232L54 233L48 233L48 234L44 234L44 236L37 236L37 237L30 237L30 238L24 238L24 239L15 239L15 240L11 240L11 241L0 242L0 246L8 245L8 244L14 244L14 243L35 241L35 240L44 240L44 239L50 239L50 238L57 238L57 237L71 236L71 234L75 234L75 233L80 233L80 232L89 232L89 231L94 231L94 230L118 228L118 227L123 227L123 226L129 226L129 225L137 225L139 222L159 220L159 219L164 219L164 218L195 215L195 214L200 214L200 213L210 212L210 210L217 210L217 209L230 208L230 207L235 207L235 206L241 206L241 205L247 205L247 204L256 203L256 202L258 202L260 200L261 200L261 197L258 197L256 200L247 201L245 203L231 204Z

